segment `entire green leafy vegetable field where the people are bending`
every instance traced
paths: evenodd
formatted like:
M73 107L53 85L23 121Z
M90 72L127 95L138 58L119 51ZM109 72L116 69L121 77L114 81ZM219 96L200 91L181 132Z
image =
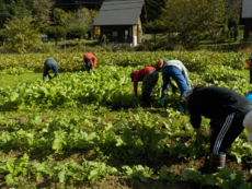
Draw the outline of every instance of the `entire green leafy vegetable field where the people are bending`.
M249 52L100 52L95 74L84 70L82 56L0 57L0 188L252 188L247 131L226 168L209 175L209 143L196 145L190 117L179 111L180 93L169 91L168 107L160 108L160 74L152 107L142 108L141 83L136 96L129 78L167 57L187 67L192 84L244 95ZM59 76L43 81L49 57ZM209 120L202 127L206 134Z

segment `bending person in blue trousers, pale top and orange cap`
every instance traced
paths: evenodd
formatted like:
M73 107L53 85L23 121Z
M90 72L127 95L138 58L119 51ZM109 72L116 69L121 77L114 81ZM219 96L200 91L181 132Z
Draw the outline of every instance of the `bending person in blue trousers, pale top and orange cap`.
M186 113L186 109L183 109L183 95L185 91L190 88L190 79L187 74L187 70L184 67L184 64L180 60L168 60L165 58L162 58L158 61L157 70L162 69L162 79L163 79L163 85L162 85L162 97L161 97L161 107L165 105L165 98L168 88L170 85L172 86L172 92L176 92L176 87L172 84L171 78L176 82L177 86L181 91L181 99L180 99L180 110L182 113Z

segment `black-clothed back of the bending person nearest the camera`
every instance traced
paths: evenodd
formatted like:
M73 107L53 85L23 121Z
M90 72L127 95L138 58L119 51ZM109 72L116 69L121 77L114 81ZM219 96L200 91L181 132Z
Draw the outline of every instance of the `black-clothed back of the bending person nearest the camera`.
M231 90L207 86L195 88L188 99L188 109L193 115L205 116L217 120L241 110L252 103L239 93Z

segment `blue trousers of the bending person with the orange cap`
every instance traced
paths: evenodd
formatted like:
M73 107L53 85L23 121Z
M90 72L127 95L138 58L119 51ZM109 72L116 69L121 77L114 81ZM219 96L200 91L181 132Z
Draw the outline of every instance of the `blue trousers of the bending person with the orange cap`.
M188 90L188 85L179 69L175 67L165 67L162 69L163 85L162 90L168 91L171 84L171 78L176 82L181 91L181 96L184 95L185 91Z

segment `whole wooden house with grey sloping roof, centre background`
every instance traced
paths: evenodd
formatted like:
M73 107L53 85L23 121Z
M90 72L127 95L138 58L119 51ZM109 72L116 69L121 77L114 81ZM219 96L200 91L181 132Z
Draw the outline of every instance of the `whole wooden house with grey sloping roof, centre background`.
M145 0L121 0L104 1L93 25L100 26L108 43L136 46L147 22Z

